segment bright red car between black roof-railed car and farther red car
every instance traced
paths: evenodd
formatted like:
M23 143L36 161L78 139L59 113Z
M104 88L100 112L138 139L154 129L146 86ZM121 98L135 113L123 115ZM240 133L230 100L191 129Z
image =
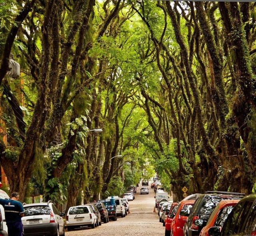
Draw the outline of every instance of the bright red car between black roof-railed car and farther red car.
M189 214L195 200L181 201L178 205L177 212L172 220L171 234L172 236L183 236L183 226L188 219L182 212Z

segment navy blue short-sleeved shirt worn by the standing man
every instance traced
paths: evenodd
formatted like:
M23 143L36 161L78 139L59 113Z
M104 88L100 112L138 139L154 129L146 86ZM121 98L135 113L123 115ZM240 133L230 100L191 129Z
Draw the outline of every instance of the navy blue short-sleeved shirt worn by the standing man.
M20 214L24 213L21 202L16 200L0 199L0 204L4 206L6 224L21 221Z

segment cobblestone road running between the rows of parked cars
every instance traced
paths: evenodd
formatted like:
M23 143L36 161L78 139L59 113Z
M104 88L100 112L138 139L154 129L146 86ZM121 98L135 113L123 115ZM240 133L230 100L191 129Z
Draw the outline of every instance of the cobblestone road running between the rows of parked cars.
M83 228L66 231L66 236L143 236L154 235L164 236L165 227L159 222L159 216L155 206L154 189L148 186L149 194L140 195L140 188L137 187L135 199L129 201L130 214L126 217L118 217L117 221L102 223L94 229Z

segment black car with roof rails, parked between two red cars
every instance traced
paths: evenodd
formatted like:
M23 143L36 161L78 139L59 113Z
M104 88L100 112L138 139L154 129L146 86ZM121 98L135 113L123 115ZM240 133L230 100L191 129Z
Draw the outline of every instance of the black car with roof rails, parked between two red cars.
M226 199L242 199L244 194L235 192L212 192L208 191L200 195L194 203L190 214L187 215L188 219L183 227L184 236L199 236L202 228L214 210L215 206L221 201ZM185 215L185 214L184 214ZM195 225L196 219L204 220L202 226Z

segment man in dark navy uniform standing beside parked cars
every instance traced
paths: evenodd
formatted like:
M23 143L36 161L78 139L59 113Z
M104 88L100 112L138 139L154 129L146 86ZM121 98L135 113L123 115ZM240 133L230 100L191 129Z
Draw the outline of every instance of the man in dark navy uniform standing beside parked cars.
M22 204L18 202L18 199L18 192L13 192L10 200L0 199L0 204L4 206L8 236L22 236L23 224L21 218L25 214Z

